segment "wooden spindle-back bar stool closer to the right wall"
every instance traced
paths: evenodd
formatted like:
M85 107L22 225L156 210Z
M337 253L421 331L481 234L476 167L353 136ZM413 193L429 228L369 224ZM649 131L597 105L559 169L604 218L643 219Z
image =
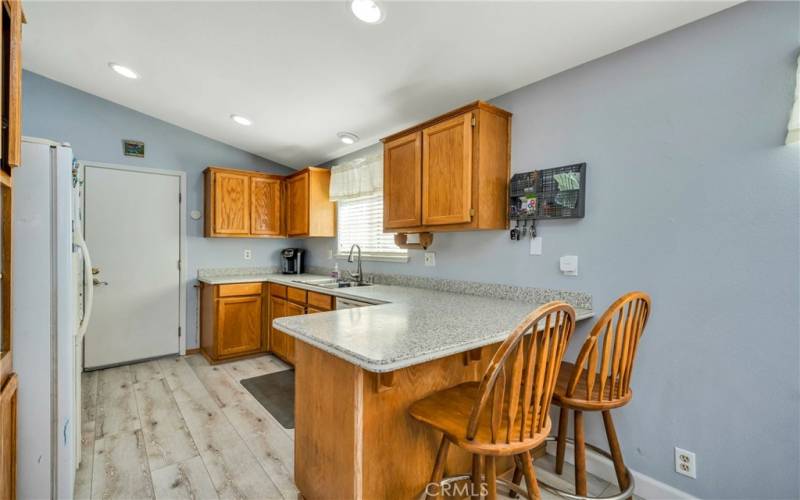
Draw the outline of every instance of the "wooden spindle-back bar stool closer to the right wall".
M614 462L614 471L621 491L630 478L622 459L611 410L625 406L631 400L631 375L647 318L650 315L650 296L630 292L617 299L600 317L589 333L576 362L562 362L558 373L553 403L561 407L558 417L556 473L564 469L567 444L567 418L574 413L575 494L586 497L586 443L583 434L583 412L603 414L606 438ZM599 364L599 371L598 371ZM524 471L515 469L514 483L519 484Z

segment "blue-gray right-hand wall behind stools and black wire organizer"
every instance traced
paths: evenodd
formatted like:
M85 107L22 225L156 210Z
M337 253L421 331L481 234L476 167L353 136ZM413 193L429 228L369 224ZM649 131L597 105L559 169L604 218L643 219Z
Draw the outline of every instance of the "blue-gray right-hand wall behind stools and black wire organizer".
M584 290L598 310L648 291L615 412L629 466L705 498L799 497L800 146L783 146L799 19L800 3L748 2L494 99L514 113L514 172L588 163L586 218L541 223L541 256L505 232L437 234L436 267L414 251L365 270ZM323 266L334 246L307 244Z

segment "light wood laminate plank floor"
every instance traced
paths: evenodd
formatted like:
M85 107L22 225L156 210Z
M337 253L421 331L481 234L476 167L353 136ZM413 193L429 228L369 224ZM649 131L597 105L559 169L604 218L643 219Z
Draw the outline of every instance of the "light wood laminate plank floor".
M265 355L211 366L200 355L83 375L77 499L291 499L294 431L239 383L288 366ZM539 478L569 485L572 467ZM589 476L589 494L616 486ZM556 498L543 491L544 498Z

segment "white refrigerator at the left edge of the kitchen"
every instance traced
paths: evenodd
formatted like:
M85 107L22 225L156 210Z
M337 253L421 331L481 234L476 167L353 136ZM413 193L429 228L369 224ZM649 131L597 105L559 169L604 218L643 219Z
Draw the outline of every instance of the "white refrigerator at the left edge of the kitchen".
M68 144L23 138L22 165L13 173L19 498L71 498L80 457L82 335L92 286L73 163Z

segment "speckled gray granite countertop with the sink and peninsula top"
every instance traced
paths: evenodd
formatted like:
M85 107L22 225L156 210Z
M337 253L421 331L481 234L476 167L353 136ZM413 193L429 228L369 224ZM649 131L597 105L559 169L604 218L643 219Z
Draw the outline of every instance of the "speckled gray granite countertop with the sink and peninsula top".
M269 281L375 305L277 318L273 325L371 372L389 372L502 341L536 304L403 286L328 289L319 275L203 277L209 284ZM576 309L577 319L594 315Z

